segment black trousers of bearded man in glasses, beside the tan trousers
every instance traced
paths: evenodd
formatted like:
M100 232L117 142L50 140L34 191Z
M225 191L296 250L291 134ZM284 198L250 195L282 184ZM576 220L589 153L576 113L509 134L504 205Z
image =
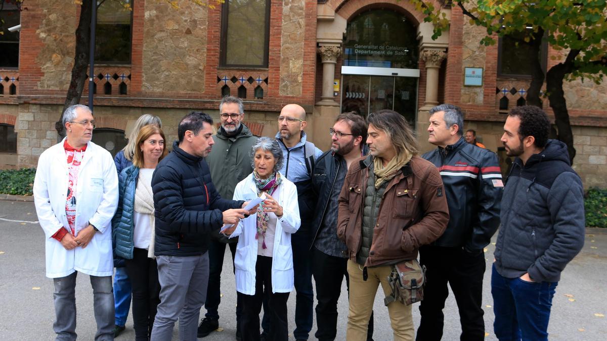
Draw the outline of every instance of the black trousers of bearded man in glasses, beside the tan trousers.
M342 280L350 288L348 259L334 257L312 248L312 273L316 282L316 334L320 341L335 340L337 335L337 300L341 295ZM373 312L369 319L367 340L373 340Z

